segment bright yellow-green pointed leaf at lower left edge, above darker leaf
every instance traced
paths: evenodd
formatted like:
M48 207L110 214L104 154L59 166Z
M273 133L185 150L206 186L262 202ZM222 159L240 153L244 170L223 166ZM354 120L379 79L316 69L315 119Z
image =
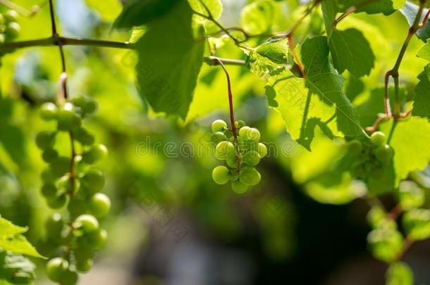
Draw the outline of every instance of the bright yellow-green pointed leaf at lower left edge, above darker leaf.
M11 253L20 253L43 258L22 234L27 232L26 227L18 227L8 220L0 217L0 249Z

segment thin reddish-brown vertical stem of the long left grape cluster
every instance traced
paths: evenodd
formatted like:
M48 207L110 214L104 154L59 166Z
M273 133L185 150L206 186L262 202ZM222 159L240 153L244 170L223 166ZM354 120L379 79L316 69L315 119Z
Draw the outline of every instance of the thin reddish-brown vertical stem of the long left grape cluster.
M55 43L57 46L59 46L59 52L61 57L61 75L60 75L60 90L61 95L57 97L57 101L65 101L68 99L68 88L67 88L67 70L66 70L66 57L64 56L64 50L63 50L63 44L61 42L61 37L59 36L59 33L57 32L56 23L55 23L55 13L54 13L54 4L52 0L49 0L49 15L51 17L51 28L52 28L52 39L55 39ZM75 141L73 139L73 133L70 131L68 132L69 138L70 138L70 151L71 151L71 157L70 157L70 197L73 197L75 195Z

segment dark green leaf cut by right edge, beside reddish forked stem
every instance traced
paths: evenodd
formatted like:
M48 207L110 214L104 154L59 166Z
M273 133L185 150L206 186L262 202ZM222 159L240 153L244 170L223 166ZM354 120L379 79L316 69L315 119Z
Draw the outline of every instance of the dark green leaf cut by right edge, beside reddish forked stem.
M414 108L412 115L430 118L430 65L418 75L419 82L414 89Z

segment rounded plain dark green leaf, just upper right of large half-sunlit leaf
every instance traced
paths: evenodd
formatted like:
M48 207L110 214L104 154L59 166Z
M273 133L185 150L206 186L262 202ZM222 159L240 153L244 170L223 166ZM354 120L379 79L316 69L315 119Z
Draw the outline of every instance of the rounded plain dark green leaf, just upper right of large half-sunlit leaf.
M328 44L333 65L339 73L348 70L356 79L370 74L375 56L362 32L356 29L335 29Z

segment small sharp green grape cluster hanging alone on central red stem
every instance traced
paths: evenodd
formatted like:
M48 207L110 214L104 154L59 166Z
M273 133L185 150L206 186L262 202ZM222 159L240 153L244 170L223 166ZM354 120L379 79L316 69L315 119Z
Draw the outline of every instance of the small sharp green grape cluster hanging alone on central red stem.
M235 122L239 134L235 141L232 130L223 120L215 120L211 127L214 132L212 140L216 142L215 157L227 165L214 168L214 182L226 184L231 181L237 193L244 193L249 186L257 185L262 177L254 166L267 155L266 146L259 142L258 129L247 127L243 121Z

